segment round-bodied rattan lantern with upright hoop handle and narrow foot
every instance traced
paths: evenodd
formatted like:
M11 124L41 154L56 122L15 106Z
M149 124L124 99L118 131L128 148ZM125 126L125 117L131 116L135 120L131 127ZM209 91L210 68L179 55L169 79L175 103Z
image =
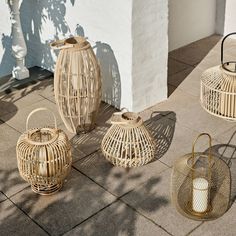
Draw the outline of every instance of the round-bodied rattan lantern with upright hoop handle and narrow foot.
M17 162L20 175L31 184L34 192L49 195L58 191L71 168L71 150L68 137L55 128L28 129L30 117L38 111L32 111L26 122L24 132L16 146Z

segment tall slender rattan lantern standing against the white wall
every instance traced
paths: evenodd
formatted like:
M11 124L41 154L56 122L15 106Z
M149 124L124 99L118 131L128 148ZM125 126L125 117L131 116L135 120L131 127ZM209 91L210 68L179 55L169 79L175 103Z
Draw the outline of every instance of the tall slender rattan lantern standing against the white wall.
M54 76L61 118L72 133L90 131L101 102L100 69L93 49L82 37L59 40L51 46L61 49Z

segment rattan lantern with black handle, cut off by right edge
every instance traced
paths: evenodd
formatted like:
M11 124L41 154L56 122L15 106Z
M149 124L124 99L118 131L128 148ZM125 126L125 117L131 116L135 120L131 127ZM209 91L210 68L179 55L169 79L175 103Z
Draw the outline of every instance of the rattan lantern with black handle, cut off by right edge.
M221 65L206 70L201 77L201 105L212 115L236 121L236 61L224 62L221 43Z

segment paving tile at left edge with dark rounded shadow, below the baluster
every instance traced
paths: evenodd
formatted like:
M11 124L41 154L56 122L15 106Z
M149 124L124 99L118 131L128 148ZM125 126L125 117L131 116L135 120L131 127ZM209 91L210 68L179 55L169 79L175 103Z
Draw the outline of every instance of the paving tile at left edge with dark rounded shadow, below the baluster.
M28 94L23 90L2 94L0 96L0 118L9 113L13 116L19 110L40 100L43 100L41 96L35 93Z

